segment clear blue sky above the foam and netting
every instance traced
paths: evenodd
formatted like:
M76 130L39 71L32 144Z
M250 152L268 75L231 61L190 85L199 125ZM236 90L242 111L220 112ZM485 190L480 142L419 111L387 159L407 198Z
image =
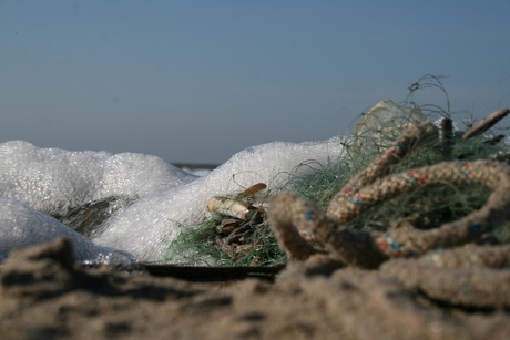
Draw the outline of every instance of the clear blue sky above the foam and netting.
M427 73L482 117L510 106L509 18L508 0L0 0L0 142L222 163L346 134Z

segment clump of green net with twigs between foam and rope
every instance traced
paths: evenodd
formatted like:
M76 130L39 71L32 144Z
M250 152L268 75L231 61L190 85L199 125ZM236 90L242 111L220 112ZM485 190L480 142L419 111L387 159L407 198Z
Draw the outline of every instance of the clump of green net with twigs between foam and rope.
M211 266L277 266L286 260L267 225L266 185L212 197L211 218L192 226L167 248L165 260ZM178 255L178 258L175 258Z

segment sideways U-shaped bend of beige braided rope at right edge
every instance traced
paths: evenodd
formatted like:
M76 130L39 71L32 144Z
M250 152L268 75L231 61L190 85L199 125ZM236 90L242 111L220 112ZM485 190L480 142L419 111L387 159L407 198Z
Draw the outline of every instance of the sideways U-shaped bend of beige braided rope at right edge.
M399 193L412 190L425 184L449 181L456 184L484 184L492 188L486 205L463 218L439 226L430 230L395 229L386 233L373 233L379 248L390 257L412 257L439 247L451 247L472 241L483 234L510 219L510 173L507 166L496 161L477 161L440 163L416 172L406 181L398 175L382 179L386 185L374 190L379 202L394 197ZM392 181L395 179L395 181ZM374 184L374 186L377 183ZM367 193L374 186L366 188ZM359 209L356 209L359 212Z

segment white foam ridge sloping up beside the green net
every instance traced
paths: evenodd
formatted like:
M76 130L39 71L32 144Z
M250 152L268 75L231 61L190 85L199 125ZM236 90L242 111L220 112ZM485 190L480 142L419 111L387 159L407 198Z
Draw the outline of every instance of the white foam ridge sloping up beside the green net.
M275 142L249 147L206 176L140 199L119 214L95 241L130 251L141 260L161 260L177 235L177 225L203 218L211 197L241 192L257 182L277 187L302 162L325 163L339 156L339 142Z

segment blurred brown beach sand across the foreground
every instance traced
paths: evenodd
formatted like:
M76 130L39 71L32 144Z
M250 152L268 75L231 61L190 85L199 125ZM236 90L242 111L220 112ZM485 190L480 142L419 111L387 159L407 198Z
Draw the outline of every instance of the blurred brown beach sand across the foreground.
M59 239L17 250L1 264L0 334L1 339L510 338L508 309L448 306L380 270L310 268L288 266L275 280L192 282L83 268L73 261L70 244Z

